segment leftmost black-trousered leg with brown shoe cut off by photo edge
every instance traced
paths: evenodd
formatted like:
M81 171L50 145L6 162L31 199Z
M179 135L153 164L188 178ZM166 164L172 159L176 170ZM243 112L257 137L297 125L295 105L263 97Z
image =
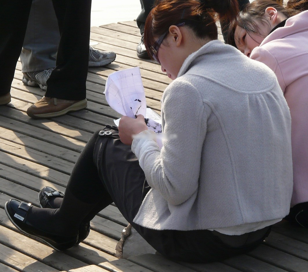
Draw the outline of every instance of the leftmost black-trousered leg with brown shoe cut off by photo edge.
M0 105L10 103L10 89L22 49L32 0L0 2Z

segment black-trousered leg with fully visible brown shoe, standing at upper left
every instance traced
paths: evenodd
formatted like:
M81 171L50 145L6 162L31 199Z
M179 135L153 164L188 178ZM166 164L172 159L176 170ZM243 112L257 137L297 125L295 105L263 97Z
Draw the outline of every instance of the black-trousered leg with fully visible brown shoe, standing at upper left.
M60 30L56 68L45 96L27 110L33 118L48 118L87 107L91 0L53 0Z

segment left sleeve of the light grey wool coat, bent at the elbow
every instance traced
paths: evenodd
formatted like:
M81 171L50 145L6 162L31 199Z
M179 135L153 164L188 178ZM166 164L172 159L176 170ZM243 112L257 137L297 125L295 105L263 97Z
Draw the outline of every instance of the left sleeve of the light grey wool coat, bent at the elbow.
M177 79L165 90L162 101L163 133L176 139L134 140L137 156L148 184L164 199L179 205L196 195L199 185L202 146L206 135L205 107L199 91Z

